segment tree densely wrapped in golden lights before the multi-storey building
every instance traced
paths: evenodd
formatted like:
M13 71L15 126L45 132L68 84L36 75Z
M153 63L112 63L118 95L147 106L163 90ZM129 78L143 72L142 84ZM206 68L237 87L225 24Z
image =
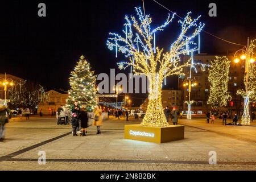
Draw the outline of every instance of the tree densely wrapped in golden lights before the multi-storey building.
M229 68L231 61L225 56L215 56L209 68L210 94L207 104L215 107L222 107L228 104L231 96L228 92Z

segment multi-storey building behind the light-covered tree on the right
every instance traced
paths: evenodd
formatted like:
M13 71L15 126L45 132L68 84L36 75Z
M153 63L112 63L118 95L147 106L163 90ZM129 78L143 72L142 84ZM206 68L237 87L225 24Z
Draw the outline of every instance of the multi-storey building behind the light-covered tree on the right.
M220 55L218 55L220 56ZM244 88L243 77L245 76L245 65L244 63L234 63L233 56L226 56L231 60L231 65L229 69L229 82L228 82L228 92L232 96L232 100L229 102L228 106L225 108L220 108L220 110L233 110L236 113L241 113L242 106L242 97L237 95L237 90ZM183 61L187 61L191 56L184 56ZM210 64L211 60L215 59L215 55L193 55L194 62L200 62L203 64ZM212 109L210 105L207 104L207 100L210 92L210 84L208 81L209 69L196 67L197 72L192 70L192 78L195 78L197 85L191 87L191 100L195 101L191 105L192 114L203 114L206 111ZM190 68L183 69L185 73L184 79L189 77ZM183 111L186 112L188 109L187 104L184 101L188 100L188 86L183 86L183 81L179 79L179 88L182 90L181 100L183 100Z

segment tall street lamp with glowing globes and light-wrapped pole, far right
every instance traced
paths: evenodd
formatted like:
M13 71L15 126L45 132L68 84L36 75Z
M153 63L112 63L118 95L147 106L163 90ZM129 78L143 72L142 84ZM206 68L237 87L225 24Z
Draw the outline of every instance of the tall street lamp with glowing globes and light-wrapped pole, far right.
M250 47L249 38L247 38L247 47L244 46L234 53L234 63L238 63L241 60L245 60L245 96L243 105L242 125L250 125L250 114L249 114L249 92L248 90L248 78L250 72L250 63L254 63L255 57L253 53L254 47ZM238 58L240 56L240 59Z

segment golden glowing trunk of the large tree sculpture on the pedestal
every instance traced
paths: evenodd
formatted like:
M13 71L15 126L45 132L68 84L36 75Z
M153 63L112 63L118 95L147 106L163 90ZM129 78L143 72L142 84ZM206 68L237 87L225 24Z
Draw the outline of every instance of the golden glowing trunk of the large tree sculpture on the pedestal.
M164 116L162 106L162 82L159 81L158 75L150 78L150 94L148 96L148 105L146 114L142 120L144 126L168 126Z

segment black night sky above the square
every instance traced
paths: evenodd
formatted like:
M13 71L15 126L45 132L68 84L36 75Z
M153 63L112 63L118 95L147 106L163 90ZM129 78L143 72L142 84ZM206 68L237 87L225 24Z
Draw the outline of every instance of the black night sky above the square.
M38 16L40 2L46 3L46 17ZM202 15L204 30L221 38L240 44L246 44L247 36L256 38L256 1L158 2L180 16L188 11L194 17ZM210 2L217 4L217 17L208 16ZM162 24L169 12L152 0L144 3L152 26ZM116 59L106 47L108 32L121 33L124 16L134 14L135 6L142 6L142 0L5 1L0 6L0 72L39 82L48 90L67 90L69 73L84 55L96 74L109 73L123 57ZM157 37L157 46L170 46L178 35L177 20L176 16ZM218 54L238 48L201 33L201 52ZM176 88L176 82L168 83L167 87Z

